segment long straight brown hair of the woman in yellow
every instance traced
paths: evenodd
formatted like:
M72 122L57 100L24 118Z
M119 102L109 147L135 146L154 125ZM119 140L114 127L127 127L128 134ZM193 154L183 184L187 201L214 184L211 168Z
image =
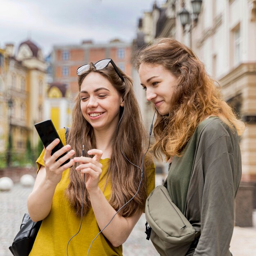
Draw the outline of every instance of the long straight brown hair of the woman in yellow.
M145 150L145 130L130 77L119 70L124 77L123 82L112 65L108 65L103 70L96 70L91 63L90 69L78 78L79 92L81 90L83 79L90 74L90 72L97 72L108 79L124 99L124 107L120 107L119 120L121 116L123 117L119 123L119 128L117 129L116 134L112 138L112 155L110 158L107 178L107 182L111 182L111 196L109 203L115 210L117 210L135 195L141 180L141 171L139 168L130 164L122 155L121 151L130 162L137 166L141 166ZM75 150L76 156L81 155L82 145L85 145L86 157L90 157L86 154L88 150L97 148L93 128L83 117L79 95L75 99L75 106L72 112L72 126L67 137L67 144L70 144L71 148ZM147 160L147 162L148 161L149 160ZM145 166L147 164L146 160L144 162ZM71 206L76 210L77 216L81 214L83 189L81 173L75 170L78 164L79 163L76 163L70 168L70 183L66 189L66 195L69 198ZM121 209L121 211L119 211L121 216L132 216L136 211L144 210L147 196L147 175L145 170L146 168L144 168L144 176L138 194L131 202ZM90 196L85 188L83 214L86 214L90 207Z

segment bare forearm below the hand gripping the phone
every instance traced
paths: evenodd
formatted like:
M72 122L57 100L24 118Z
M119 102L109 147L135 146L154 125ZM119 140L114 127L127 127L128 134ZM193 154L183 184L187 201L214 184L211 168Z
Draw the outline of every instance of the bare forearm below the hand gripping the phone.
M43 179L29 195L27 207L29 216L33 221L43 220L46 218L52 207L52 198L56 185Z

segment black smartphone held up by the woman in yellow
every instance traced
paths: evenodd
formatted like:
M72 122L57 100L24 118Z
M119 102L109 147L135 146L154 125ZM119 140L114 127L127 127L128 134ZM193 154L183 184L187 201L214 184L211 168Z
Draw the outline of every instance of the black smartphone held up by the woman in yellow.
M37 123L35 124L36 130L38 132L38 135L40 137L40 139L43 142L43 145L45 146L45 148L52 143L52 141L54 141L54 139L59 139L60 142L58 145L56 145L53 149L52 149L52 153L51 155L53 155L56 151L58 151L59 149L61 149L63 147L63 143L61 142L60 137L58 136L58 132L56 131L54 124L52 123L52 120L45 120L43 122ZM61 157L63 157L64 155L66 155L67 152L65 152L63 155L61 155L60 157L58 157L56 159L56 161L58 161L58 159L60 159ZM63 166L64 164L67 164L70 161L70 159L67 159L67 161L65 161L63 164L61 164L61 166Z

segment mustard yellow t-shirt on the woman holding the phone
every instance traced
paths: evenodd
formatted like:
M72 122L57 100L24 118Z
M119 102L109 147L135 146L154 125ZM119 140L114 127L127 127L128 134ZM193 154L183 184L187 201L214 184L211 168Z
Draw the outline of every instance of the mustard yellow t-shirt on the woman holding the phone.
M65 129L58 131L58 134L65 145ZM44 165L43 162L44 150L38 157L36 163L38 168ZM99 180L99 187L103 191L106 184L107 171L109 166L109 159L100 160L102 173ZM152 162L147 168L148 172L148 194L155 187L155 165ZM34 246L29 256L63 256L67 255L68 240L77 233L80 227L81 217L76 216L75 211L70 207L69 201L65 196L65 190L70 182L70 169L63 172L61 181L56 186L52 209L49 215L43 220ZM108 182L103 194L107 199L110 198L111 184ZM97 220L94 216L92 207L83 216L82 226L79 233L72 238L68 246L69 256L87 255L88 249L92 240L97 236L100 229ZM123 255L122 245L114 247L108 239L101 233L92 243L89 256L105 256L105 255Z

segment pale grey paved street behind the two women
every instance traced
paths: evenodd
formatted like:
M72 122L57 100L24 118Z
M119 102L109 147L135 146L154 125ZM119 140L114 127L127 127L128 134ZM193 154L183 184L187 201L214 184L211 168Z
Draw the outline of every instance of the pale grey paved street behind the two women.
M27 196L31 188L15 184L9 192L0 191L0 256L11 256L9 245L18 232L20 222L27 212ZM123 246L124 256L157 256L153 245L146 240L144 233L145 217L141 217L132 234ZM234 256L256 256L256 212L254 227L235 227L231 241L231 252Z

